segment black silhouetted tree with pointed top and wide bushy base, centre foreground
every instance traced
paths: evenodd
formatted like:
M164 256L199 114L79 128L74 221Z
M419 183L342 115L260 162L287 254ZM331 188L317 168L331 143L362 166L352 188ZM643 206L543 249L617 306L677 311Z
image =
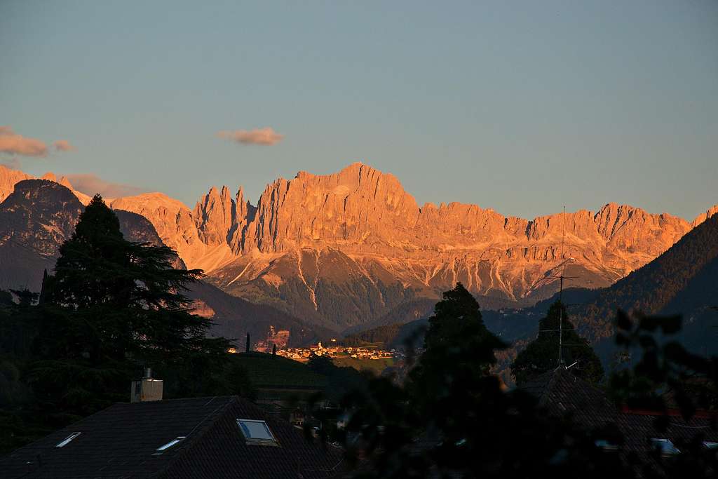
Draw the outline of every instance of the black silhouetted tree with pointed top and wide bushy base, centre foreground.
M589 432L505 390L492 373L503 347L461 284L444 292L408 381L374 378L342 401L348 458L368 458L358 476L631 477Z

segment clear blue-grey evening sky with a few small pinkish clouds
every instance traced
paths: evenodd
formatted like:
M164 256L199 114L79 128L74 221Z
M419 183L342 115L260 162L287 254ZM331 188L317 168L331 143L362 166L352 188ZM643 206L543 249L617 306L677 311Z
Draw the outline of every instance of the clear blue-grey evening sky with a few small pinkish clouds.
M0 45L0 162L113 195L360 161L523 218L718 203L714 0L2 0Z

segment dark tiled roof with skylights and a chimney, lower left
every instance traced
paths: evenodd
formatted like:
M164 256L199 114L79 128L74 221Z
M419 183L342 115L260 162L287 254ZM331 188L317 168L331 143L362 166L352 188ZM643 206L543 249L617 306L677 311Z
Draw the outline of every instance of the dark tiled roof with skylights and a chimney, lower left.
M279 447L247 445L236 419L263 419ZM73 432L81 432L57 448ZM154 455L175 437L187 439ZM0 458L3 478L327 478L342 452L236 396L115 404ZM300 475L301 474L301 475Z

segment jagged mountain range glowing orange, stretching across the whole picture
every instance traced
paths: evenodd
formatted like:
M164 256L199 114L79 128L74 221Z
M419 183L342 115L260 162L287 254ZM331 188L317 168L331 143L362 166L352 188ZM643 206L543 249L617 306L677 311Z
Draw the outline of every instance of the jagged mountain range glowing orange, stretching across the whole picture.
M67 193L51 197L32 182ZM70 197L77 201L70 209L90 200L64 178L33 180L0 166L0 259L18 265L3 268L0 287L37 287L78 214L50 220L47 208L68 207ZM526 220L462 203L419 206L396 177L361 163L332 175L280 178L256 205L242 187L231 195L225 186L212 187L192 209L159 192L106 202L134 213L134 225L136 215L146 219L183 264L204 269L223 292L335 332L391 322L393 312L411 315L412 304L429 304L456 282L495 308L550 297L558 271L572 276L572 287L609 287L718 211L689 222L608 203ZM133 234L139 231L147 228ZM44 259L11 258L22 248Z

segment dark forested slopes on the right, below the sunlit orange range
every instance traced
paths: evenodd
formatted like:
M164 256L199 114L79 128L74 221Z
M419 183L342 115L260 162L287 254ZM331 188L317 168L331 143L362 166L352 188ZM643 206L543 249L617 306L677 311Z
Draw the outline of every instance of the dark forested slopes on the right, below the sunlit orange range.
M681 315L678 338L694 353L717 354L718 342L718 214L709 216L661 256L628 276L600 289L569 288L562 294L569 320L587 338L607 368L615 360L617 310L645 315ZM546 315L559 294L521 309L482 310L486 326L511 345L498 352L500 370L508 368L516 353L538 333L538 320ZM384 321L369 330L348 335L348 344L402 345L412 338L421 345L432 304L416 301L398 311L394 322ZM505 376L507 381L513 381Z

